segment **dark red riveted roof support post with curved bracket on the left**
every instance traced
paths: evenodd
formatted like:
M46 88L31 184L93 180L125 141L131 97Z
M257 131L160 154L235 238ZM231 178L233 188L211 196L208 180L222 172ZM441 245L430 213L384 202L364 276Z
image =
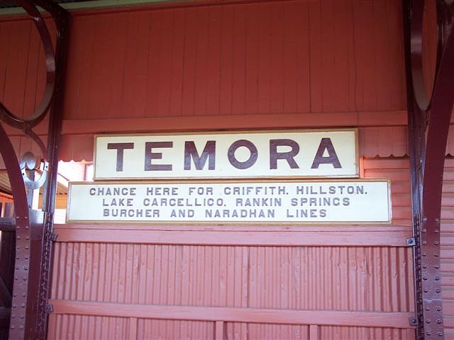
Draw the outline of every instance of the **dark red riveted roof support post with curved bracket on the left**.
M62 102L68 50L70 14L52 0L16 0L33 19L45 53L46 84L40 105L29 118L19 118L0 103L0 121L21 130L38 147L44 159L44 173L38 181L27 176L28 164L34 155L27 152L18 159L11 140L0 125L0 153L8 171L14 199L16 227L16 263L14 266L13 293L9 339L45 339L49 312L49 278L52 255L53 215L57 188L58 149L62 127ZM57 28L54 52L48 24L36 6L52 16ZM33 132L50 111L48 146ZM34 163L33 163L34 164ZM50 168L49 168L50 164ZM34 165L33 165L34 166ZM49 176L47 176L49 174ZM45 183L43 208L31 210L26 197Z

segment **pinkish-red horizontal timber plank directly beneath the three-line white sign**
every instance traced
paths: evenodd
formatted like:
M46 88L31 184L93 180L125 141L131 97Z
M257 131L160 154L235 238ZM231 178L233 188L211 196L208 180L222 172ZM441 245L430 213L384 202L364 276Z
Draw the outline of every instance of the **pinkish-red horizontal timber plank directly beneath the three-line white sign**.
M140 227L140 226L137 226ZM405 246L409 229L394 232L223 232L134 229L55 229L57 242L262 246Z

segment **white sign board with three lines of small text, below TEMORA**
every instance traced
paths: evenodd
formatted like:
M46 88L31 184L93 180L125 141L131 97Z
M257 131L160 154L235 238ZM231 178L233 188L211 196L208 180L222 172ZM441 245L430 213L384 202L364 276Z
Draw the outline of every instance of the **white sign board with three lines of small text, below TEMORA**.
M70 183L68 222L390 222L389 181Z

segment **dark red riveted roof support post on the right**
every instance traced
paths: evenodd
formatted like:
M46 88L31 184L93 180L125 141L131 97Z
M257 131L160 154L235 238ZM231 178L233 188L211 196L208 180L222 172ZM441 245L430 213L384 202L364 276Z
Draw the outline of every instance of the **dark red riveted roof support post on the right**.
M440 229L443 169L454 101L453 4L438 0L438 55L432 93L423 79L424 0L404 0L416 339L444 339ZM427 138L426 138L427 136Z

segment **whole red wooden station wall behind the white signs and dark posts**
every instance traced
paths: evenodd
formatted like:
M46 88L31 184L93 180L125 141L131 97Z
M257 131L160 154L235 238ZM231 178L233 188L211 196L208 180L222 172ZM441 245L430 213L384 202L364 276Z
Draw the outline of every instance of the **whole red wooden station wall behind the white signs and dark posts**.
M50 339L412 339L400 1L160 6L73 13L62 159L92 160L98 132L353 126L362 177L392 180L394 220L387 227L59 225ZM0 101L19 115L43 92L37 41L30 21L0 18ZM38 132L45 137L45 124ZM31 147L9 133L18 152ZM454 338L452 169L449 159L447 339Z

